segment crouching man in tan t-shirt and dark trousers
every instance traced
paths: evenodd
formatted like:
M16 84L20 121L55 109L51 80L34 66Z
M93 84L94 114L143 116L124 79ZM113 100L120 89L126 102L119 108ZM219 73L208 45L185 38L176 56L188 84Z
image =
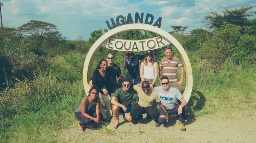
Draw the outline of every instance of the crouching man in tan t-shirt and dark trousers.
M156 122L156 127L160 126L157 121L159 112L155 103L157 103L159 107L166 113L165 119L168 122L169 114L164 105L160 102L156 91L150 90L148 81L142 82L141 87L137 88L134 86L133 88L138 92L138 96L140 98L138 105L136 105L131 111L133 124L139 124L138 120L143 118L142 114L148 113L150 117Z

